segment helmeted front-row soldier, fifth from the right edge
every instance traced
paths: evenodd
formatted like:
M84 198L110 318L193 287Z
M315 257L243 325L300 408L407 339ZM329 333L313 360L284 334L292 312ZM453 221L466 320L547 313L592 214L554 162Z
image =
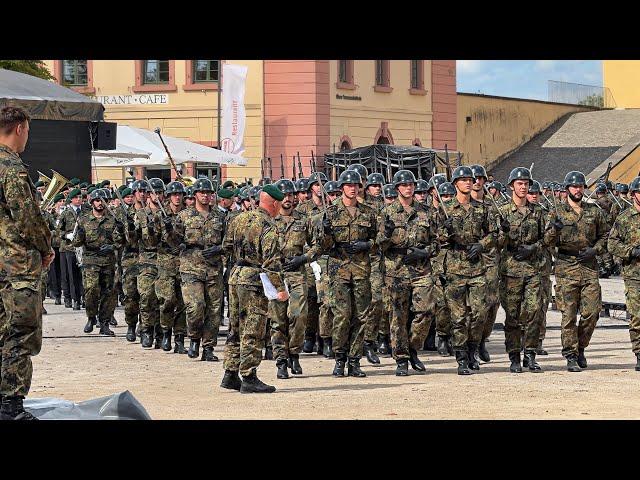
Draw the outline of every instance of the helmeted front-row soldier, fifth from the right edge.
M378 242L384 252L385 282L391 292L391 346L398 365L396 375L406 376L409 362L414 370L425 371L418 349L433 320L435 291L429 258L438 245L428 208L414 200L413 173L396 172L393 184L398 199L382 212L384 221Z

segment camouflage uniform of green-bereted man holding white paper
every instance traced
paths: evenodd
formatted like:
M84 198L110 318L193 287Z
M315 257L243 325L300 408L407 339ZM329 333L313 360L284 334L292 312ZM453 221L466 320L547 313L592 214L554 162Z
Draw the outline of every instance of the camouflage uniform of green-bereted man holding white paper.
M269 306L260 273L266 272L274 287L284 291L273 219L260 207L238 215L226 232L224 247L236 259L229 279L235 288L229 292L233 297L230 303L238 306L238 316L229 318L224 369L248 376L262 360Z

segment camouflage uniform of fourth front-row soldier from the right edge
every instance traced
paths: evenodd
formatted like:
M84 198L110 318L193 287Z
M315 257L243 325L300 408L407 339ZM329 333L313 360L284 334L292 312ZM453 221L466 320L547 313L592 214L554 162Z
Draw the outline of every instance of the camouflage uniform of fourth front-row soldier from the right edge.
M497 240L497 228L484 203L471 199L467 210L453 198L445 207L453 219L452 235L444 228L439 231L440 243L446 248L445 296L451 310L453 349L466 351L482 340L487 297L484 257L468 260L467 248L480 243L483 251L490 251Z

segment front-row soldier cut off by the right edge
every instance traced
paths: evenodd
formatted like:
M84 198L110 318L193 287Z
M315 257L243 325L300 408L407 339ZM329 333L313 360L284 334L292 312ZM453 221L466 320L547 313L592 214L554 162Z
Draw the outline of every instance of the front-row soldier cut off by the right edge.
M640 177L629 184L633 206L616 219L609 234L609 251L622 261L625 300L629 314L631 350L640 372Z

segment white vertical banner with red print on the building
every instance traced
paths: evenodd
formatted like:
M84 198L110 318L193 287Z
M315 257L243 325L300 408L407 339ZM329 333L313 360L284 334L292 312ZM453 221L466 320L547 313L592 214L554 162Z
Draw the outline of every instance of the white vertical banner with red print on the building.
M222 64L222 122L220 129L222 150L244 153L244 90L247 67Z

